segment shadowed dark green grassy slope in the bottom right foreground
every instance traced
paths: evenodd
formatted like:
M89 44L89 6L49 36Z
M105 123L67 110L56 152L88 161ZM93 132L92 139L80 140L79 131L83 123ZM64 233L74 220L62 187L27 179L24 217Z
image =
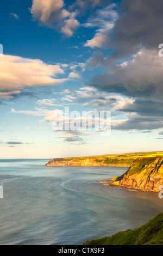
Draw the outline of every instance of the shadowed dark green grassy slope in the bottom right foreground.
M84 245L163 245L163 212L141 228L87 241Z

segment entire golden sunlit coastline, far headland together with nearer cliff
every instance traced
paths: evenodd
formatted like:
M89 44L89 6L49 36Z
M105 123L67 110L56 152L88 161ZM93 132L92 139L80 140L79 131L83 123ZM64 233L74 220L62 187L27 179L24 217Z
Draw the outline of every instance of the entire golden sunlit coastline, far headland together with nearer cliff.
M54 166L110 166L129 167L122 176L104 180L105 186L160 192L163 185L163 152L142 152L116 155L66 157L46 164Z

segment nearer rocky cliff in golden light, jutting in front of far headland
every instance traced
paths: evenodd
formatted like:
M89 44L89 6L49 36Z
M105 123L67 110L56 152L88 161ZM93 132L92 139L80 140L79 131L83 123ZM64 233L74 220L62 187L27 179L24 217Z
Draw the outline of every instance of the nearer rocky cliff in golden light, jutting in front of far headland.
M160 192L161 185L163 185L163 157L135 160L126 173L110 184L110 186L153 192Z

